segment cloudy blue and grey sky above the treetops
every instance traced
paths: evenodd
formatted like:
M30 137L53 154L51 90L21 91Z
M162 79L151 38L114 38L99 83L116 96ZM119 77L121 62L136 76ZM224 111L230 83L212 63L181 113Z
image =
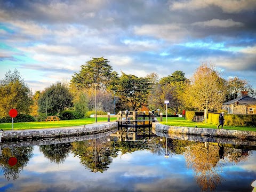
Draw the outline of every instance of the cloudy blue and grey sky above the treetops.
M104 57L139 77L213 63L256 88L255 18L255 0L0 0L0 78L18 69L44 90Z

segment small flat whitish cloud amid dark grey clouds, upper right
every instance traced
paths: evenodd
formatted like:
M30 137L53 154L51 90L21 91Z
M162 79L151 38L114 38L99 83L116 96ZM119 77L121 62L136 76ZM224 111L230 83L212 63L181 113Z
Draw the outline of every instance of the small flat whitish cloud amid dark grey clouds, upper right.
M212 19L209 21L199 21L191 24L192 26L203 26L203 27L242 27L242 22L235 22L233 19L220 20Z

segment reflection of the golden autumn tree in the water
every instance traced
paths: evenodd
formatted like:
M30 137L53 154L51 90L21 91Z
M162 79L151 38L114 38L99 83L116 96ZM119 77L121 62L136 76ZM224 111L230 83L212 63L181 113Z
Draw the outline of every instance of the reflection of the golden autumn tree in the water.
M187 166L194 170L196 182L202 191L214 190L223 180L217 169L219 147L211 143L197 142L187 147Z

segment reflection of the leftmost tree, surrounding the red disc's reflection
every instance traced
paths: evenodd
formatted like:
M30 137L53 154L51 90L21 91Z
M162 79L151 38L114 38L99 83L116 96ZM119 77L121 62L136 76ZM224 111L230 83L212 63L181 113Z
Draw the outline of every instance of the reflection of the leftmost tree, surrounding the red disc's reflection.
M17 180L20 172L27 166L29 159L33 156L34 147L15 147L13 151L11 148L4 148L2 156L0 156L0 167L4 172L7 180L11 178L13 181ZM10 157L17 158L17 164L10 166L8 161Z

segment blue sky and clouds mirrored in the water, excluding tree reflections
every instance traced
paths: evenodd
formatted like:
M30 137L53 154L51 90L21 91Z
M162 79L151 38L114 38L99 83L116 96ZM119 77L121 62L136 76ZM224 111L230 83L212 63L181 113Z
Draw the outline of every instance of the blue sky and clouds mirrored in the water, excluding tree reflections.
M255 152L255 151L254 151ZM255 154L255 153L254 153ZM255 158L252 154L247 162L237 165L227 163L227 182L247 181L255 173ZM183 155L172 155L165 159L150 151L134 151L116 158L103 173L91 172L80 164L78 157L69 154L65 162L55 164L45 158L35 147L33 158L13 182L11 190L19 191L199 191L194 180L193 170L187 169ZM164 163L163 163L164 162ZM234 167L233 167L234 166ZM254 168L254 172L251 168ZM248 175L248 172L251 174ZM232 180L233 179L233 180ZM0 177L0 182L1 182ZM4 180L3 182L6 182ZM237 184L237 185L238 185ZM251 184L250 184L251 185ZM228 187L227 187L228 188Z

